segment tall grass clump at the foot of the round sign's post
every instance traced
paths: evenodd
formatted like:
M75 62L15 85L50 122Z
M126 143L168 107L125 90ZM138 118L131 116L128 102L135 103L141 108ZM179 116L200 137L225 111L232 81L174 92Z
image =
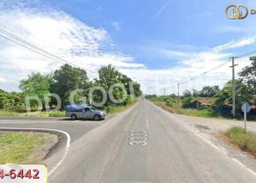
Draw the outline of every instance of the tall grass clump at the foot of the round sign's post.
M241 127L232 127L225 133L229 143L236 145L241 150L250 152L256 157L256 134L245 132Z

